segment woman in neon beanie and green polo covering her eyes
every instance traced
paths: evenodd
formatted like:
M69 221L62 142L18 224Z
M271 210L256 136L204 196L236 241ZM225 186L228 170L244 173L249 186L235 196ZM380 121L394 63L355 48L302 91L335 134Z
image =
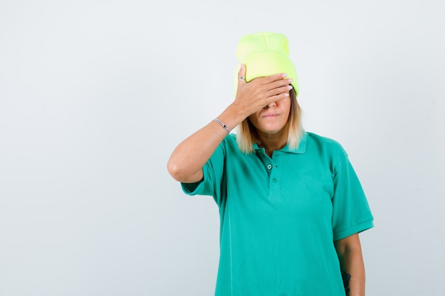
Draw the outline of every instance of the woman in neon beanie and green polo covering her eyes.
M215 295L365 295L358 233L372 214L341 145L301 126L286 37L245 35L237 56L235 101L168 160L184 192L220 209Z

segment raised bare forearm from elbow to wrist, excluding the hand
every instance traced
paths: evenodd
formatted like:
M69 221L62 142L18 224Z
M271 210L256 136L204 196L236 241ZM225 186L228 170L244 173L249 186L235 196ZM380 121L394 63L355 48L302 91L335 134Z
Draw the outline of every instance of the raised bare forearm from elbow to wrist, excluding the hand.
M218 119L223 121L229 130L232 130L245 117L242 112L237 110L235 104L231 104L218 116ZM227 136L225 129L217 122L211 121L173 150L167 164L168 172L179 182L198 182L203 177L203 165L209 160L225 136Z

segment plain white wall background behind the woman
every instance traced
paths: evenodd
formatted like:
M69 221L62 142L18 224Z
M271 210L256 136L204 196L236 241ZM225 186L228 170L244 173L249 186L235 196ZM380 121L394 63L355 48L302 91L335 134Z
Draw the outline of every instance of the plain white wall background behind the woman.
M166 162L259 31L368 195L367 295L443 295L444 2L210 3L0 1L0 295L213 295L218 208Z

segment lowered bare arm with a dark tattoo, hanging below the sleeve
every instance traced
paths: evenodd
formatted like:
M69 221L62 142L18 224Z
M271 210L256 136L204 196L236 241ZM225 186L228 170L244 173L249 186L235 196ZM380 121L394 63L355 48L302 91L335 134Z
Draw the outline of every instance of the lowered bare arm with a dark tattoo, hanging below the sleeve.
M351 244L337 243L338 259L341 264L341 273L345 283L347 296L365 296L365 264L358 241Z

